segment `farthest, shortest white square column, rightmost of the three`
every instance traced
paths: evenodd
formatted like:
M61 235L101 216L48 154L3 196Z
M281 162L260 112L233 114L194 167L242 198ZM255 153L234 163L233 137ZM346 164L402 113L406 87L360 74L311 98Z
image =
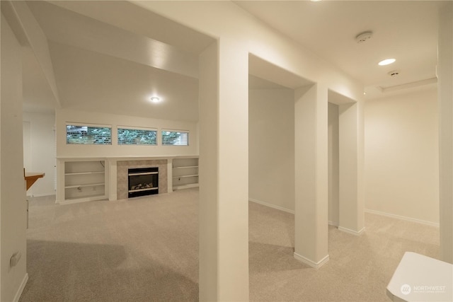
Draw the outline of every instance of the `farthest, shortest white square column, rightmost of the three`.
M338 106L339 124L339 226L340 231L360 235L365 231L363 196L363 105Z

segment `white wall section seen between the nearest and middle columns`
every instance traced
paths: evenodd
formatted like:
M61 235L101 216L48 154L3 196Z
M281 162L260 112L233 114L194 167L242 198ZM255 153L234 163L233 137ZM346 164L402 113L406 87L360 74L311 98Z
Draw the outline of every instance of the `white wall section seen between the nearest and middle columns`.
M294 213L294 91L248 92L248 194Z

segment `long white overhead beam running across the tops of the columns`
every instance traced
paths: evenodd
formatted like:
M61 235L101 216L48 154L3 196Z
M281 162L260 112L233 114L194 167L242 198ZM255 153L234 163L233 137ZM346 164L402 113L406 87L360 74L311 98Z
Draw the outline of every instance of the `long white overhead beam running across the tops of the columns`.
M132 1L212 37L231 39L248 52L292 74L322 83L352 100L362 100L363 85L316 54L281 35L231 1ZM80 11L88 11L81 6ZM190 11L190 13L187 13ZM231 22L234 20L234 22ZM283 85L285 79L280 79ZM287 82L286 82L287 83ZM297 87L294 87L297 88Z

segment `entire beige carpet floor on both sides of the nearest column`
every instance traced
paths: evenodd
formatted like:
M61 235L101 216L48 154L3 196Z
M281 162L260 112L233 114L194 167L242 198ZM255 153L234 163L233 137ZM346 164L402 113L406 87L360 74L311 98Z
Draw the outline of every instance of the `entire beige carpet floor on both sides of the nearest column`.
M59 206L30 200L20 301L197 301L198 190ZM366 232L329 227L330 261L292 256L294 216L249 204L251 301L389 301L406 251L438 257L439 229L366 214Z

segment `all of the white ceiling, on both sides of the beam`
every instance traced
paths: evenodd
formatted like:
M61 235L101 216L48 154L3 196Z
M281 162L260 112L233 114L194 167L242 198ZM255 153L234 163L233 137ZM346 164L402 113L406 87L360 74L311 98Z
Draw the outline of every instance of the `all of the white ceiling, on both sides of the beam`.
M367 97L435 85L442 1L234 3L362 81ZM47 35L63 108L197 120L197 54L214 39L125 1L27 4ZM355 36L366 30L372 38L357 44ZM24 57L25 110L52 110L56 102L33 52L25 50ZM388 57L396 62L377 65ZM251 88L303 82L285 71L275 81L256 77L268 67L251 57ZM392 70L400 75L389 76ZM279 82L282 76L289 86ZM154 94L164 102L147 102Z

